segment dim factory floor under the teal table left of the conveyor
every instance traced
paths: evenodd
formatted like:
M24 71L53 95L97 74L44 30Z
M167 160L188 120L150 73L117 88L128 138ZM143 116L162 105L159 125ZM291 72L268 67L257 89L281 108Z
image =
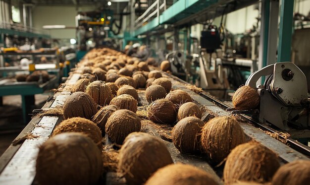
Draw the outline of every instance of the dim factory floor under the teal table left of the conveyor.
M41 109L52 94L49 91L36 94L36 105L33 109ZM0 156L25 126L22 118L21 96L4 96L3 106L0 106Z

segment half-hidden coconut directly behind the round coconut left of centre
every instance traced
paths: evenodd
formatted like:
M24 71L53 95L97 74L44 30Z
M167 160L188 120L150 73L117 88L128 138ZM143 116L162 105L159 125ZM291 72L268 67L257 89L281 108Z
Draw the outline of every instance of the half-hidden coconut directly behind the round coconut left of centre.
M111 100L110 105L116 105L119 107L119 109L127 109L134 113L136 113L138 109L137 100L128 94L122 94L122 95L116 96L115 98Z

